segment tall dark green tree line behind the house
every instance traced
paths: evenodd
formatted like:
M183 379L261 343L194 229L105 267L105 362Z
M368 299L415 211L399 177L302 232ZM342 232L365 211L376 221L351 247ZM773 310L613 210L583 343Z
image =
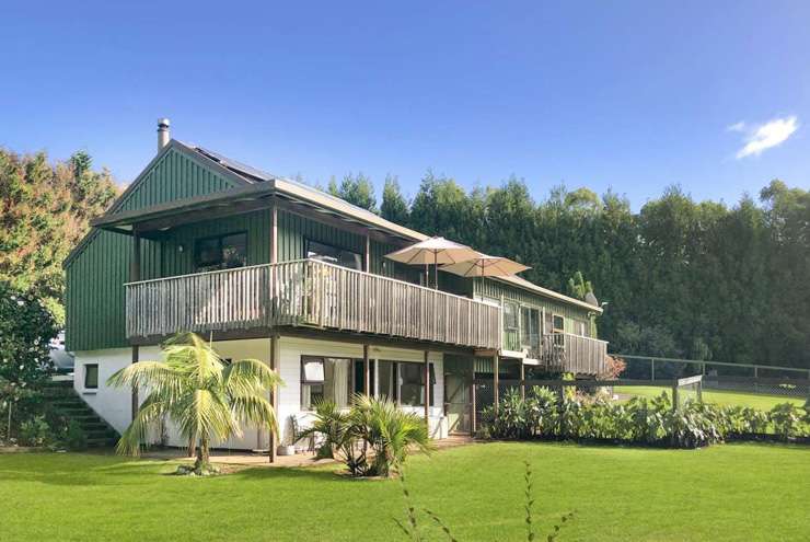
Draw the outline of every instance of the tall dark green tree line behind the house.
M810 367L810 193L772 181L754 199L695 201L671 186L634 212L626 197L523 180L465 191L428 172L406 199L362 174L327 191L417 231L530 265L522 276L606 303L611 351Z

